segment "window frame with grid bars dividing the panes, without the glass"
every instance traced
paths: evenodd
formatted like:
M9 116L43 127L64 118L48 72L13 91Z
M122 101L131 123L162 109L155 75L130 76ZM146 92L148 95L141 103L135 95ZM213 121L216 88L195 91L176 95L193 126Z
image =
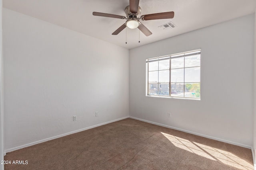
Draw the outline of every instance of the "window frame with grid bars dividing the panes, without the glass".
M189 57L189 56L195 56L195 55L200 55L200 63L199 63L199 66L196 65L196 66L185 66L185 59L186 57ZM180 68L183 68L183 81L182 82L178 82L179 84L183 84L183 96L172 96L172 84L174 84L174 82L172 81L171 79L171 71L172 70L175 70L175 69L179 69L179 68L172 68L171 67L171 64L172 64L172 59L176 59L176 58L183 58L184 61L183 61L183 67L180 67ZM162 61L162 60L169 60L169 82L159 82L159 71L161 71L161 69L159 69L159 61ZM149 70L149 63L150 62L154 62L154 61L158 61L158 68L157 70ZM146 59L146 96L150 96L150 97L160 97L160 98L179 98L179 99L192 99L192 100L201 100L201 61L202 61L202 55L201 55L201 49L196 49L196 50L191 50L191 51L186 51L186 52L182 52L182 53L175 53L175 54L172 54L172 55L165 55L165 56L161 56L161 57L154 57L154 58L149 58L149 59ZM185 82L185 70L186 68L199 68L199 82ZM168 69L164 69L164 70L168 70ZM152 87L152 83L154 82L149 82L149 72L153 72L153 71L157 71L158 72L158 75L157 75L157 82L155 82L157 84L157 94L150 94L149 92L149 86ZM177 78L176 78L176 82L175 84L177 83ZM199 84L199 98L197 97L185 97L185 89L187 88L186 87L186 84L193 84L193 83L197 83ZM162 86L162 84L168 84L169 85L169 95L166 96L166 94L159 94L159 88ZM160 87L159 87L160 86ZM176 84L177 86L177 84ZM162 90L162 88L161 88ZM176 90L177 92L177 90ZM167 92L164 92L164 93L167 93ZM193 93L192 93L193 94ZM195 93L194 93L195 94ZM193 96L194 96L193 94Z

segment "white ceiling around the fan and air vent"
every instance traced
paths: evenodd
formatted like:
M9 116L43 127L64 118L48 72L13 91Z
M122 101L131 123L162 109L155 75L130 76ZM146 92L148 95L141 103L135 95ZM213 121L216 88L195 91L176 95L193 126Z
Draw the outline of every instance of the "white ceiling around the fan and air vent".
M126 20L92 15L92 12L102 12L125 16L128 5L129 0L3 0L4 8L126 49L252 14L256 0L140 0L141 15L174 11L173 19L142 21L152 32L148 37L139 29L129 28L112 35ZM160 27L169 22L175 27Z

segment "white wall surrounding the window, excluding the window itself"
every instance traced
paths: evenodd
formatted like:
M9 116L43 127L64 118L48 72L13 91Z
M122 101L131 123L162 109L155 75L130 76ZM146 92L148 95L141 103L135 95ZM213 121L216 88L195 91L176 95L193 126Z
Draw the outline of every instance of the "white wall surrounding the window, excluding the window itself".
M252 146L253 37L249 15L131 49L130 116ZM200 101L145 96L146 59L198 48Z

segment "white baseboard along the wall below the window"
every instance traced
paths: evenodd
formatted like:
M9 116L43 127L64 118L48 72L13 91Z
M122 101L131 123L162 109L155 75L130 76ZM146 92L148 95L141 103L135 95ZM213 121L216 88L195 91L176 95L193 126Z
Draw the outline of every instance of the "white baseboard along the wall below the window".
M154 124L154 125L159 125L159 126L162 126L162 127L167 127L167 128L170 128L170 129L175 129L175 130L178 130L178 131L190 133L190 134L193 134L193 135L206 137L206 138L209 138L209 139L214 139L216 141L225 142L225 143L229 143L229 144L232 144L232 145L237 145L237 146L240 146L240 147L252 149L252 147L248 146L248 145L243 145L243 144L240 144L240 143L235 143L235 142L227 141L227 140L224 140L224 139L219 139L219 138L216 138L216 137L211 137L211 136L203 135L203 134L196 133L196 132L187 131L187 130L184 130L184 129L180 129L180 128L176 128L176 127L172 127L172 126L168 126L168 125L163 125L163 124L160 124L160 123L156 123L156 122L152 122L152 121L148 121L148 120L144 120L144 119L139 119L139 118L136 118L136 117L131 117L130 116L130 118L140 120L140 121L144 121L144 122L147 122L147 123L151 123L151 124Z

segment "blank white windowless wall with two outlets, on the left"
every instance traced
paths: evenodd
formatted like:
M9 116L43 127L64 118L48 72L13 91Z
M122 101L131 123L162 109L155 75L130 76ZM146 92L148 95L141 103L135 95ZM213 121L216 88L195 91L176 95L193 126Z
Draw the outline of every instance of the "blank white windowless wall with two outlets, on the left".
M7 152L128 117L127 49L5 8L3 48Z

